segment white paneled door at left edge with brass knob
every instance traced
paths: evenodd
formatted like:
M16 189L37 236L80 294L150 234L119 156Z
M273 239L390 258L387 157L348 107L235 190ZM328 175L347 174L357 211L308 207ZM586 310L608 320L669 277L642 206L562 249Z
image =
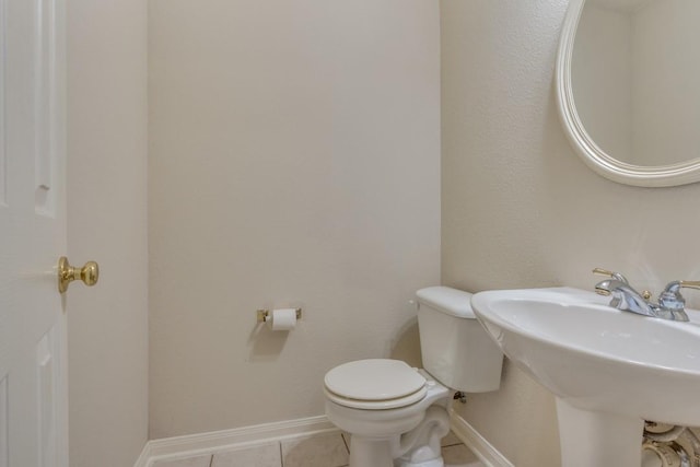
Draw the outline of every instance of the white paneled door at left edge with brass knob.
M63 0L0 0L0 467L68 467Z

